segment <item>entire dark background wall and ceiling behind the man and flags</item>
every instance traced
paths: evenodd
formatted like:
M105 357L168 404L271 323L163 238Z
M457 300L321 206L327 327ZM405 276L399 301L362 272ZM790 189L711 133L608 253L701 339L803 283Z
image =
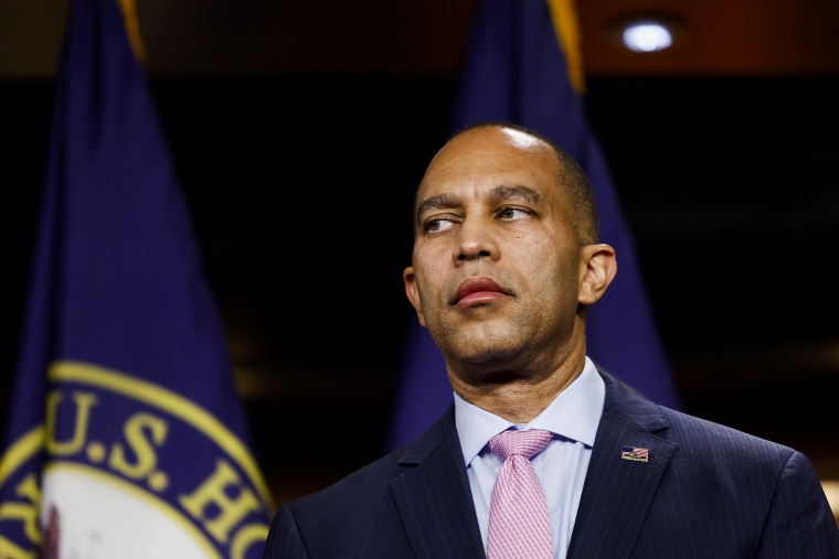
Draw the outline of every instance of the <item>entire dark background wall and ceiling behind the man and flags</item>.
M278 502L381 451L414 320L411 197L447 135L475 3L137 1ZM578 10L590 120L687 411L804 450L839 480L839 2ZM676 46L620 51L615 22L650 12L681 23ZM0 3L8 370L65 17L65 1ZM337 437L342 463L306 447L288 465L305 447L288 423L322 418L367 429L365 443Z

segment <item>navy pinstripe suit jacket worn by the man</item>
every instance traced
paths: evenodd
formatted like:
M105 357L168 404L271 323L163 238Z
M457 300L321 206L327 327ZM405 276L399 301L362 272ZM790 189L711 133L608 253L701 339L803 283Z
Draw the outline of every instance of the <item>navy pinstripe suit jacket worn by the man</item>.
M839 527L804 454L601 375L606 401L569 559L839 559ZM622 460L624 445L649 449L649 462ZM415 441L283 506L263 556L484 557L454 405Z

